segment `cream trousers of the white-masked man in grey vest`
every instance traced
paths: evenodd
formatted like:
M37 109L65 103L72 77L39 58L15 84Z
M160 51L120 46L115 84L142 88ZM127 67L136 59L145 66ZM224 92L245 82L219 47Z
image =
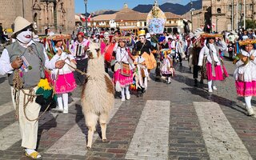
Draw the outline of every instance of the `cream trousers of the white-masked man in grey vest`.
M34 93L37 90L37 87L34 87ZM14 88L11 87L11 98L14 104L14 108L16 109L16 103L14 102ZM27 94L29 90L24 90ZM26 96L27 97L27 96ZM19 95L19 106L18 106L18 122L19 122L19 130L21 132L22 137L22 146L24 148L29 149L36 149L37 142L38 142L38 121L30 122L26 119L24 112L23 112L23 98L24 94L22 90L20 91ZM35 102L29 102L26 106L26 115L30 119L38 118L41 106Z

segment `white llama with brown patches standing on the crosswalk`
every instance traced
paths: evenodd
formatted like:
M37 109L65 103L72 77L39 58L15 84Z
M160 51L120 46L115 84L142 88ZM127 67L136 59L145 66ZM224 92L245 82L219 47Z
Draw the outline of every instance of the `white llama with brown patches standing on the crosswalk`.
M86 147L90 149L98 122L102 129L102 142L106 142L106 122L114 106L114 85L105 72L104 57L100 54L98 43L90 42L88 56L88 78L83 85L81 104L88 127Z

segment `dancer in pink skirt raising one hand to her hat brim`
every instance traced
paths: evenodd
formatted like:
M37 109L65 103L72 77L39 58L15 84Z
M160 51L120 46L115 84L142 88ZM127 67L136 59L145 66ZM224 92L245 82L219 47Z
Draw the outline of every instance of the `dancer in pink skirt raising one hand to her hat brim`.
M217 90L214 81L223 81L225 77L229 76L219 55L220 50L226 50L226 43L222 41L219 34L205 34L205 36L206 45L200 51L198 66L203 66L205 58L208 91L213 92L213 89Z

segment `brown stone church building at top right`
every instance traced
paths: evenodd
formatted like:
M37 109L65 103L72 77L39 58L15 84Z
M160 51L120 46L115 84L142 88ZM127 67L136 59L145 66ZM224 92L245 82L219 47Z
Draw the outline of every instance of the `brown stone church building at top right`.
M232 12L233 10L233 12ZM245 12L244 12L245 11ZM204 26L205 30L220 32L222 30L239 30L245 18L256 20L254 0L202 0L202 9L193 11L194 30ZM190 12L184 15L191 20ZM247 27L246 27L247 28Z

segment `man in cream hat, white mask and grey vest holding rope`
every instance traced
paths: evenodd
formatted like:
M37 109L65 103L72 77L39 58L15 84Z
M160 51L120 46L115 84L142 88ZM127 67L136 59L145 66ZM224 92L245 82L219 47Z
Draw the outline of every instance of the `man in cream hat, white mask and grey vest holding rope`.
M41 106L31 100L23 106L25 94L33 94L37 90L38 82L45 77L44 68L62 68L63 61L58 61L60 57L56 54L51 60L46 55L46 50L39 42L34 42L32 38L33 26L25 18L17 17L14 21L14 33L12 38L16 42L6 46L0 58L0 74L8 74L11 87L14 108L17 110L19 128L22 137L22 147L25 148L26 156L33 159L40 159L42 156L35 150L38 141L38 114ZM18 73L18 74L17 74ZM14 86L15 79L21 84L21 88ZM14 91L16 90L16 91ZM18 91L20 90L20 91ZM15 93L15 94L13 94ZM28 97L29 95L26 95ZM18 101L16 101L18 99ZM26 115L23 110L26 111ZM32 120L31 119L37 119Z

